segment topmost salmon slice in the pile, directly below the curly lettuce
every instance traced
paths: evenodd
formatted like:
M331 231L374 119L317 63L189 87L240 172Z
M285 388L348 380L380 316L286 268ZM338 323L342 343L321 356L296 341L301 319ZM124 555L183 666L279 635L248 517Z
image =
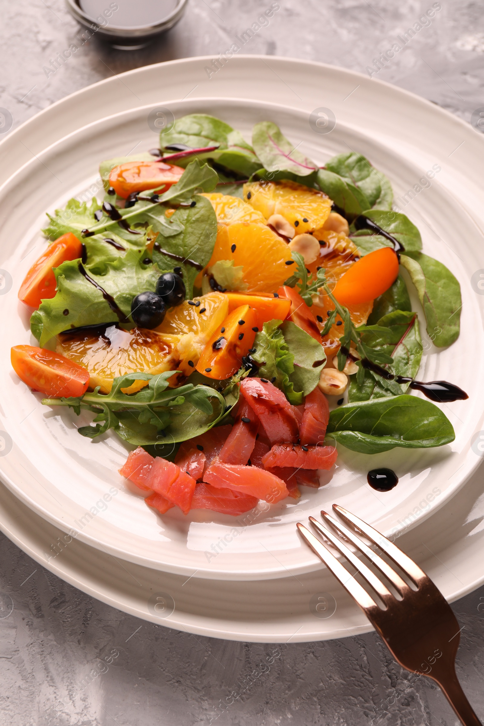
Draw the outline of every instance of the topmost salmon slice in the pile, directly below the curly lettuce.
M298 420L279 388L263 378L245 378L240 392L261 420L271 446L298 440Z

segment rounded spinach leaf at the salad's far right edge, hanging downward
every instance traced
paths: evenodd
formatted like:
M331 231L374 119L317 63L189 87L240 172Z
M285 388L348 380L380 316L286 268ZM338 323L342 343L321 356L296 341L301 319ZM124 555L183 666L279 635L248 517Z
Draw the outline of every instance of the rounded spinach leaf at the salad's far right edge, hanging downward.
M421 252L401 255L427 320L427 333L435 346L450 346L459 338L461 286L449 269Z

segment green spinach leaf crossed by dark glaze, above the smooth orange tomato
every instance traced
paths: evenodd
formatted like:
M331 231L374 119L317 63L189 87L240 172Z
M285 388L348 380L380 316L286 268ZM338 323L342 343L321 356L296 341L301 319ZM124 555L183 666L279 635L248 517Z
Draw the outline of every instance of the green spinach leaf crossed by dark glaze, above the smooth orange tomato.
M379 227L401 242L406 253L419 252L422 249L422 237L415 225L405 214L400 212L387 212L378 209L369 209L363 212L364 216L372 219ZM369 229L350 229L350 238L359 248L361 255L367 255L380 247L391 247L392 243L385 240L380 234L372 234Z

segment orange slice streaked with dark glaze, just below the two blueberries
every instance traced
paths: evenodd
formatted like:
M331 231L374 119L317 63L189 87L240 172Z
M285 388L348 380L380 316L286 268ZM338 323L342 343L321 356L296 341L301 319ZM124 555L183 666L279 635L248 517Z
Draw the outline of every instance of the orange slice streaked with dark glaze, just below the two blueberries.
M109 393L112 380L134 372L163 373L176 370L178 354L173 345L153 330L134 328L120 330L115 325L105 330L73 330L57 335L57 353L78 363L89 371L89 388L101 386ZM135 393L148 385L136 380L123 393Z

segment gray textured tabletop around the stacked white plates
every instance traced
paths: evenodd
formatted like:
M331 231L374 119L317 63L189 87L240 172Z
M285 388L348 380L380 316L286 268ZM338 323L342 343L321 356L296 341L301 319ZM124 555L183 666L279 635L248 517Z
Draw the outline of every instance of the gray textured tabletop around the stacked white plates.
M133 0L134 1L134 0ZM141 0L142 1L142 0ZM181 23L138 52L93 38L55 73L44 66L75 42L62 0L1 3L0 106L15 128L39 110L113 73L175 58L216 57L271 3L191 0ZM244 52L319 60L361 72L418 22L432 0L406 8L374 0L280 0ZM401 4L403 6L403 4ZM378 78L421 94L467 121L484 105L482 6L443 0ZM4 726L454 726L427 680L407 678L374 634L326 643L247 645L165 629L93 600L0 536L0 590L15 610L0 619L0 722ZM465 626L457 669L484 719L484 588L454 604ZM112 649L118 655L89 685ZM247 681L274 654L269 672ZM481 685L479 685L481 684ZM230 703L232 691L242 695ZM229 703L222 710L220 703Z

